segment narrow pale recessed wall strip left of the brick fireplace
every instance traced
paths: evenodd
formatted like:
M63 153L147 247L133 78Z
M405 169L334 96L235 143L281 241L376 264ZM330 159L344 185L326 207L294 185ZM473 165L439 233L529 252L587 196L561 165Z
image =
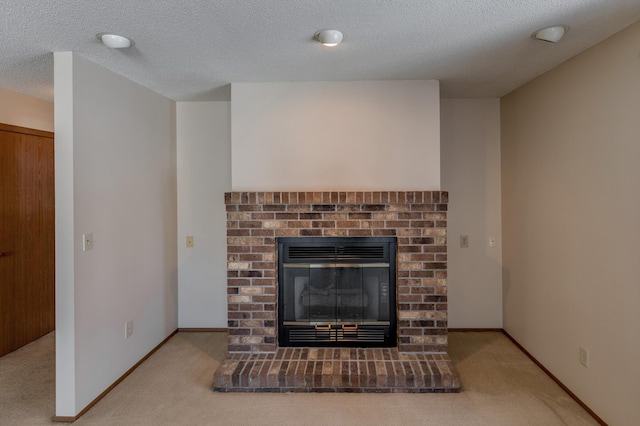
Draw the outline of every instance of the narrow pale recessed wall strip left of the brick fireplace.
M180 328L227 327L224 193L231 190L229 102L178 102ZM194 247L186 248L186 237Z

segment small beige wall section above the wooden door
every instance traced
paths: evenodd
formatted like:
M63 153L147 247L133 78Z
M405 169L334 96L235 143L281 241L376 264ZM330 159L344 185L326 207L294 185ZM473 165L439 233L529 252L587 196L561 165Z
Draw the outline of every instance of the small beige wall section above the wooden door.
M53 102L0 88L0 123L53 132Z

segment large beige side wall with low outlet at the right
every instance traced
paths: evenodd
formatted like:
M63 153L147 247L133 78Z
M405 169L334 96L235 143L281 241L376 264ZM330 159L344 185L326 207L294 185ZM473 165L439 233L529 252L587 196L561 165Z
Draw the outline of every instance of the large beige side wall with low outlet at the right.
M501 100L504 328L615 425L640 424L638 40L640 23Z

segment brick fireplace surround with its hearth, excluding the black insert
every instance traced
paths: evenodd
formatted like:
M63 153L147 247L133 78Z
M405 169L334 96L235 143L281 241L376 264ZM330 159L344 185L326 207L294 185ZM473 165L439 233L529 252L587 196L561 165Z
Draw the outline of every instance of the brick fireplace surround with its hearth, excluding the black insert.
M448 193L443 191L226 193L230 357L216 372L214 388L459 389L457 373L447 356L447 204ZM397 238L397 348L325 351L277 347L276 240L301 236ZM348 365L345 377L344 365L337 367L331 362L317 370L318 351L321 359L355 362L355 373L353 365ZM314 366L310 375L305 370L306 375L298 375L296 380L293 371L288 377L291 362L279 360L283 356L297 357L296 365L304 356L307 370L311 356ZM247 367L249 361L260 367L255 363ZM392 361L383 368L382 386L376 361L382 361L379 367ZM284 375L282 362L287 366ZM358 377L355 382L351 373ZM430 374L433 377L429 379L426 376Z

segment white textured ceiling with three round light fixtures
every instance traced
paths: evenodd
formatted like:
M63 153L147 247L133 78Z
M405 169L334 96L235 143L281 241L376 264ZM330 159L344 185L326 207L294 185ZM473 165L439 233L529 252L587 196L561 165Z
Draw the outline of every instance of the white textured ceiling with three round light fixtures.
M640 19L638 0L1 0L0 87L53 99L53 54L73 51L178 101L231 82L441 81L499 97ZM531 39L570 27L557 44ZM313 40L338 29L344 42ZM134 47L110 50L114 32Z

